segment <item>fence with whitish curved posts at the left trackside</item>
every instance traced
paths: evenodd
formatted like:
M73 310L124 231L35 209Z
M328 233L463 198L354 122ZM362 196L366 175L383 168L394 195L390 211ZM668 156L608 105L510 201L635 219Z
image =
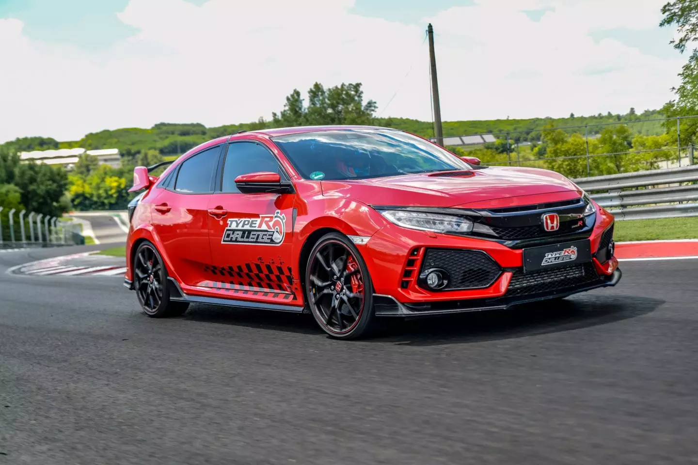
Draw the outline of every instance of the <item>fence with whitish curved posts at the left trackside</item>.
M79 245L80 232L79 224L62 218L0 206L0 249Z

